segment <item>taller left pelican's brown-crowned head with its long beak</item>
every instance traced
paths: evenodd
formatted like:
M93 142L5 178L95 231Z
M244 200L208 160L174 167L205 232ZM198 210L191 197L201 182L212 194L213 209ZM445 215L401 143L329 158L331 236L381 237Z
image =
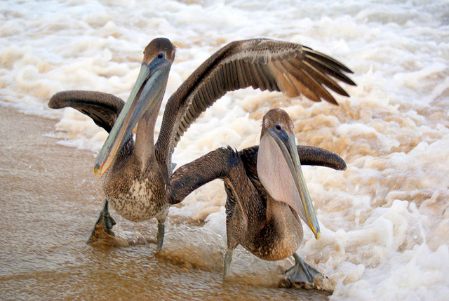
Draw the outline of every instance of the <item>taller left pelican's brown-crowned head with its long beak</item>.
M168 39L154 39L145 48L138 79L97 156L94 173L98 177L101 178L114 162L117 152L123 147L142 115L147 111L158 114L154 111L159 111L174 59L175 46Z

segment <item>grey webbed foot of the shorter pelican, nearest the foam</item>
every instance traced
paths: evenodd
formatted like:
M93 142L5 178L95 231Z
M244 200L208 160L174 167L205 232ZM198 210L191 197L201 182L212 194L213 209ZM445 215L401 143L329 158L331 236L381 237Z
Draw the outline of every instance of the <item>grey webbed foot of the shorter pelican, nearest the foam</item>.
M293 257L295 257L295 265L284 274L285 283L288 286L320 289L320 285L316 283L316 280L322 281L322 279L327 279L328 277L305 262L297 253L293 253Z

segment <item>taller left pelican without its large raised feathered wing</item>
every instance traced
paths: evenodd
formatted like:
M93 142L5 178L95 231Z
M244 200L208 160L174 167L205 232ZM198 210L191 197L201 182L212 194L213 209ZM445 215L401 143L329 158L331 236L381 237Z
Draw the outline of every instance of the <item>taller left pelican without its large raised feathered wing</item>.
M114 95L94 91L57 93L48 103L53 108L74 107L109 132L94 167L102 179L105 204L88 242L106 239L115 244L110 203L123 218L133 222L156 218L157 250L162 248L168 215L165 188L171 169L156 159L154 125L174 59L175 46L168 39L150 42L126 103ZM132 131L136 123L134 141Z

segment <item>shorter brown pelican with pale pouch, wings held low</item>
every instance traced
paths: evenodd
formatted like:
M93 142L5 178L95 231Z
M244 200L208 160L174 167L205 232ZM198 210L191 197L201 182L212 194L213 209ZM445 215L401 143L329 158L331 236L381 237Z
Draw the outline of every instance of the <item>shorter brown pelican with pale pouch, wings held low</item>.
M295 266L286 271L286 279L313 286L315 276L323 275L296 253L302 241L300 218L316 239L320 236L300 162L346 168L337 154L296 146L290 116L282 109L271 109L262 121L259 147L240 152L220 148L178 168L168 183L168 202L179 203L194 189L221 178L227 192L223 276L228 276L232 251L240 244L263 260L293 255Z

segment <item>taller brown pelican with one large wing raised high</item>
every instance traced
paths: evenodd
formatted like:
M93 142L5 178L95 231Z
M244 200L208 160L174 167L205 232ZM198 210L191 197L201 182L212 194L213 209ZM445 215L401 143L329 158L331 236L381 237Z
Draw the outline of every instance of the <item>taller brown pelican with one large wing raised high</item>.
M114 236L110 203L131 221L155 217L161 250L168 213L165 186L173 169L173 149L190 124L227 91L252 86L336 104L327 88L348 96L336 80L354 85L344 75L351 70L311 48L269 39L234 41L210 56L171 95L154 145L154 125L174 58L175 46L168 39L151 41L126 104L114 95L93 91L60 92L48 103L52 108L78 109L110 131L94 168L102 178L105 205L89 241L105 234Z

